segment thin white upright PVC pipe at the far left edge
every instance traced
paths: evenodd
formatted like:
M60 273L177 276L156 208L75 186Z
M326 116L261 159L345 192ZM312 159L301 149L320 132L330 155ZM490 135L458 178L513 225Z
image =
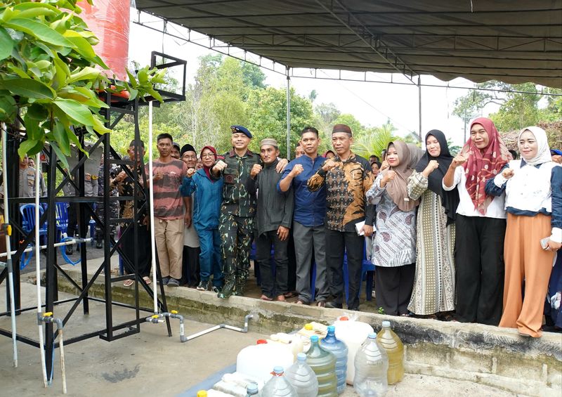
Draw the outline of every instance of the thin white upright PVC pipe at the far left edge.
M8 142L8 131L6 124L2 123L2 170L4 171L4 223L10 225L10 214L8 209L8 173L6 172L8 164L6 158L6 143ZM18 367L18 343L17 343L17 330L15 327L15 297L13 292L13 263L12 252L10 245L10 235L6 231L6 266L8 267L8 287L10 289L10 319L12 323L12 346L13 346L13 367Z

